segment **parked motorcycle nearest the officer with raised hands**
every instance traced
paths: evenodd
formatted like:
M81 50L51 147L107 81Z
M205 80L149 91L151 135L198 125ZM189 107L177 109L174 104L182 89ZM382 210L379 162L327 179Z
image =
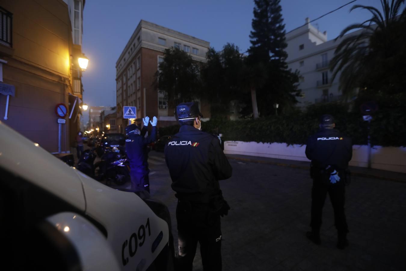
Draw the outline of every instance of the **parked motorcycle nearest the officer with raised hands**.
M113 147L102 155L102 160L94 165L95 180L113 181L117 185L130 180L130 166L123 148Z

